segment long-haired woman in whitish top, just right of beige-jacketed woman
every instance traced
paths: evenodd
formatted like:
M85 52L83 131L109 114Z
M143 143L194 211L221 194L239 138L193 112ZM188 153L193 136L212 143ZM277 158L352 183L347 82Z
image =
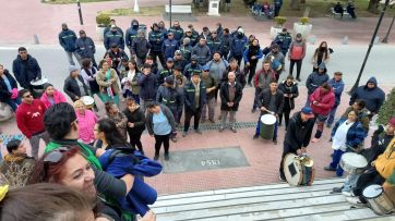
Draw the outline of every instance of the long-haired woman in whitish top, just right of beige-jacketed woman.
M136 103L140 103L139 77L141 75L136 62L132 59L128 63L129 71L122 76L123 97L132 97Z

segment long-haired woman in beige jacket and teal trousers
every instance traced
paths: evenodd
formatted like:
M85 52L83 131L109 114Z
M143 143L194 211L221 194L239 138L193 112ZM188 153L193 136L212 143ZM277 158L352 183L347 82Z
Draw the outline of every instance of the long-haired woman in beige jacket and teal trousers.
M96 82L99 85L101 101L104 103L112 101L119 106L118 74L106 60L101 60L99 65L101 69L97 72Z

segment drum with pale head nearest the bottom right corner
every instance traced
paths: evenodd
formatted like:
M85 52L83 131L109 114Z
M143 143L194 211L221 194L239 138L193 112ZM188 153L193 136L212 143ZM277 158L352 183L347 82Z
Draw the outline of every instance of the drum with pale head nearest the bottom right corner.
M385 195L383 187L380 185L373 184L366 187L362 192L362 196L378 214L388 214L395 211L394 204Z

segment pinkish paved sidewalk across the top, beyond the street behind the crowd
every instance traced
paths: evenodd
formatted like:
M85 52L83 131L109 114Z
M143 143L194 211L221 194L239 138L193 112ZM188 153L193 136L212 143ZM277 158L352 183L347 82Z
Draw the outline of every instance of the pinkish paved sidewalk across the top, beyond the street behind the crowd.
M4 0L2 0L4 1ZM28 3L26 3L28 1ZM190 0L173 0L173 4L188 3ZM168 1L160 0L144 0L140 1L140 7L145 5L164 5ZM38 0L25 0L25 1L9 1L8 8L3 10L3 17L17 17L8 20L0 24L0 29L9 30L9 35L0 36L1 45L23 45L32 44L33 36L36 34L39 37L40 44L51 45L58 44L58 34L61 29L61 23L69 24L71 29L77 32L80 28L84 28L87 35L97 40L96 35L96 13L101 10L111 10L119 8L132 8L133 2L130 0L110 1L110 2L94 2L83 3L82 13L84 19L84 26L80 26L79 13L76 4L46 4ZM28 5L28 7L26 7ZM160 16L120 16L116 17L118 25L125 30L130 26L132 19L137 19L142 24L152 25L154 22L161 21ZM235 29L238 25L243 26L246 34L254 34L261 40L261 45L267 45L270 42L270 29L273 21L255 21L252 16L199 16L198 22L191 22L195 28L200 32L203 26L213 28L217 22L220 22L224 27ZM285 27L292 28L294 22L298 21L298 17L288 17ZM28 21L28 22L27 22ZM327 40L331 45L340 45L345 36L349 37L350 45L368 45L376 25L376 17L358 17L356 21L351 20L337 20L333 17L311 19L313 24L312 35L316 36L315 42L319 44L322 40ZM190 22L183 23L181 26L185 27ZM391 19L385 17L380 28L379 35L382 39L390 26ZM168 26L168 22L166 22ZM394 36L394 34L392 35ZM390 44L395 45L395 37L390 37Z

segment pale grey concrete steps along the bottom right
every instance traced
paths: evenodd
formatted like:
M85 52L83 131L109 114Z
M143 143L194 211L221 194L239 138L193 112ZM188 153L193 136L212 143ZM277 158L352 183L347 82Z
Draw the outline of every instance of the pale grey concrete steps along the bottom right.
M379 217L367 207L351 208L343 195L330 194L343 182L344 179L327 179L302 187L283 183L165 195L152 209L159 221L395 220Z

